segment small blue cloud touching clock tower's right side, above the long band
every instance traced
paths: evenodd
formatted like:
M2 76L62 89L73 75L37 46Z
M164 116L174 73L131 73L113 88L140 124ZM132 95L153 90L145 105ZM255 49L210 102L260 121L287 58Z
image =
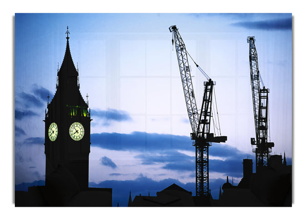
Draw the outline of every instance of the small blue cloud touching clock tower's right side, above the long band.
M109 126L110 121L129 121L131 117L125 111L120 111L116 109L107 109L107 110L91 110L92 117L98 117L105 120L104 125Z

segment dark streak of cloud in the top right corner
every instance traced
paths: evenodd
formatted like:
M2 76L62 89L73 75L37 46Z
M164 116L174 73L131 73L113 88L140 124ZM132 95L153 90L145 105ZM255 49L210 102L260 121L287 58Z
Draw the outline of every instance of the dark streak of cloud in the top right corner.
M292 18L262 20L262 21L243 21L232 23L233 26L246 29L258 30L292 30Z

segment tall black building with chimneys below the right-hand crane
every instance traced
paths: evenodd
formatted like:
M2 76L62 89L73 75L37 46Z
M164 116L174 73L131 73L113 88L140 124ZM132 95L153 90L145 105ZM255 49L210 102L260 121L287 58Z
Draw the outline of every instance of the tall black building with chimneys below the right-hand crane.
M228 177L211 206L292 206L292 165L286 155L271 155L268 166L252 173L252 160L243 160L243 178L234 186Z

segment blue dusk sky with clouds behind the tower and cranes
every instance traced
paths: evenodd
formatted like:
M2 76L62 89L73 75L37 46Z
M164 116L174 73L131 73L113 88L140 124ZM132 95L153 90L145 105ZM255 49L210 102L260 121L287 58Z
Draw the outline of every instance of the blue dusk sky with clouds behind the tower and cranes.
M216 81L222 135L228 140L209 150L210 181L230 176L237 184L243 159L255 158L248 36L255 36L260 74L270 88L272 151L286 152L292 161L291 19L291 14L16 14L15 184L45 179L42 120L47 95L51 100L55 93L67 26L80 91L84 99L89 95L92 112L90 182L133 183L143 177L194 183L195 152L168 31L172 25ZM205 78L192 64L200 108ZM219 185L212 187L217 197Z

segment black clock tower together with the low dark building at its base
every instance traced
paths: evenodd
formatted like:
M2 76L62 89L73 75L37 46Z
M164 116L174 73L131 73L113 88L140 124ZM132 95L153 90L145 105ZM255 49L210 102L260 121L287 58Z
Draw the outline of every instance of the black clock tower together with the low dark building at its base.
M91 114L69 46L45 111L45 186L15 191L15 206L112 206L112 188L89 188Z

